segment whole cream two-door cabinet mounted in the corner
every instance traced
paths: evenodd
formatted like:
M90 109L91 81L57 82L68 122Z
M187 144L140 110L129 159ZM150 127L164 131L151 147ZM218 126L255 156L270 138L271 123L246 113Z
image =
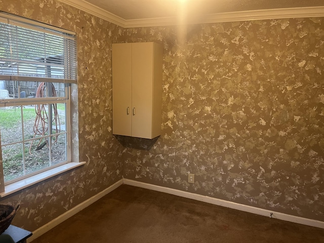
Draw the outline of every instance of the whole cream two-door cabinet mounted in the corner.
M112 133L152 139L161 134L163 46L112 44Z

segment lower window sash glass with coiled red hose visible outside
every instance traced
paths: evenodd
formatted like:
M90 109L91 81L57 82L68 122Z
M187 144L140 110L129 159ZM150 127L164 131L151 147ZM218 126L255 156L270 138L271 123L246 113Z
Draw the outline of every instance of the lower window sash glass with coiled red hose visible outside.
M33 103L0 109L5 181L67 161L67 100Z

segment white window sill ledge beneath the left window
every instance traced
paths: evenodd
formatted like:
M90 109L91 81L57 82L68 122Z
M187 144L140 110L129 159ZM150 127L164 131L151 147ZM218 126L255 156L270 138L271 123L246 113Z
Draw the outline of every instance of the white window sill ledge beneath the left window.
M31 186L31 185L34 185L34 184L36 184L38 182L47 180L47 179L49 179L49 178L51 178L53 176L59 175L59 174L61 174L63 172L72 170L74 168L77 168L79 166L83 166L85 164L86 164L86 162L80 162L80 163L70 162L70 163L64 164L62 166L58 166L58 167L55 167L53 169L41 172L39 174L36 174L36 175L30 176L30 177L21 179L19 181L10 183L8 185L5 185L5 191L0 192L0 197L8 196L8 195L10 195L10 194L12 194L14 192L17 192L19 190L22 190L22 189L24 189L24 188L26 188L28 186Z

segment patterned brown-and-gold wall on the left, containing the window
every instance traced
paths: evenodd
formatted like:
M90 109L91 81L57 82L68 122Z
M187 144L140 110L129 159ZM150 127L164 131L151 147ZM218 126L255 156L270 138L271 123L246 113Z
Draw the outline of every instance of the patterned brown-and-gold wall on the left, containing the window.
M0 199L20 204L13 223L35 230L121 179L123 147L111 134L111 43L120 29L53 0L0 0L0 10L77 35L79 158L87 164Z

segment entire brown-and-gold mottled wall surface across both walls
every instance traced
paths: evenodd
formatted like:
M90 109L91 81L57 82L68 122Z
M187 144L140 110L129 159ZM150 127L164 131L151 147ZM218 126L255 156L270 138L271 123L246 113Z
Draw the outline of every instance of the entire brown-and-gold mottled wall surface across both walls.
M22 206L15 225L35 230L123 174L324 221L322 18L183 31L121 29L53 0L0 0L0 10L77 33L79 156L87 161L0 199ZM163 132L153 141L111 134L111 43L120 41L165 48Z

